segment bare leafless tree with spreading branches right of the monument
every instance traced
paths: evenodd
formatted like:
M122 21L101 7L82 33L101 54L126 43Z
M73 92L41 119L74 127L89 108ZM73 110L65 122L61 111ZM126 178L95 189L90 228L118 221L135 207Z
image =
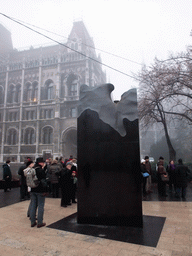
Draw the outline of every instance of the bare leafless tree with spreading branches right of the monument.
M190 52L155 60L137 76L140 82L139 113L145 127L161 123L164 128L170 159L176 152L171 143L168 123L187 120L192 124L192 58Z

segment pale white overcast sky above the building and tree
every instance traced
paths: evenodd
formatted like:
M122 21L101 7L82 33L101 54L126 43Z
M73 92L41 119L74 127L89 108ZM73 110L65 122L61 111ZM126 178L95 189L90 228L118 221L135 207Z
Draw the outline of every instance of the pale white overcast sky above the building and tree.
M49 36L61 42L73 22L83 20L102 62L130 76L155 57L166 59L192 45L192 0L1 0L0 12L57 33L63 38ZM2 15L0 23L11 31L14 48L53 43ZM105 66L103 70L115 86L113 99L138 86L129 76Z

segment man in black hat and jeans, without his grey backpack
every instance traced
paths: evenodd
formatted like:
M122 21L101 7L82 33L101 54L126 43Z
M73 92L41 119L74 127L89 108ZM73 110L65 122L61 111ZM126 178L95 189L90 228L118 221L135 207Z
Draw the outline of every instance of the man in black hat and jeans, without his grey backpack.
M46 173L44 170L45 161L42 157L38 157L35 162L34 169L36 170L36 176L40 181L39 185L35 188L31 188L31 227L37 228L44 227L46 223L43 222L45 196L47 188L43 186L41 180L46 179ZM38 208L37 222L36 222L36 211Z

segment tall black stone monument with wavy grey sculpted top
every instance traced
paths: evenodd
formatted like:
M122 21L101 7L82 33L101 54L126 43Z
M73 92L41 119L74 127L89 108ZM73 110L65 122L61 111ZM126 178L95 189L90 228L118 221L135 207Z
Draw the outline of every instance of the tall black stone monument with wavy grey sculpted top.
M83 85L78 117L79 224L142 227L137 91Z

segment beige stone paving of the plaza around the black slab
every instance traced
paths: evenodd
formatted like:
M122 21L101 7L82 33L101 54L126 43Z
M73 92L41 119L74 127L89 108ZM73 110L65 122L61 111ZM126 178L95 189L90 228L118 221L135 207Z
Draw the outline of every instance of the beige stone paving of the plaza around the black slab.
M8 194L14 193L12 189ZM0 191L0 193L4 193ZM3 195L3 194L2 194ZM60 207L60 199L46 198L47 226L31 228L27 218L29 201L0 208L1 256L188 256L192 255L192 202L143 201L143 214L166 217L156 247L119 242L47 227L77 211L77 205Z

